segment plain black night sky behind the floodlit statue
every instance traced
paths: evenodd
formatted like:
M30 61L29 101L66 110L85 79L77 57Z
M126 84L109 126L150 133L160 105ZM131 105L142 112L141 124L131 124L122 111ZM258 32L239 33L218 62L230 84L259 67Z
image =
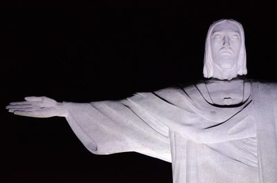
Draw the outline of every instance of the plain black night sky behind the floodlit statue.
M12 1L1 6L0 182L172 182L171 164L93 155L62 117L19 117L9 102L122 99L202 79L218 19L242 23L248 77L276 81L276 6L266 1Z

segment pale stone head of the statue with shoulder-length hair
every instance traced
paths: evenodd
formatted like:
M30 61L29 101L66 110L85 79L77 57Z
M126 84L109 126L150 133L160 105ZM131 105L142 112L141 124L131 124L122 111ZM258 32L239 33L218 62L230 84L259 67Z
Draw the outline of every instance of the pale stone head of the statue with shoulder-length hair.
M244 30L238 21L222 19L208 29L204 77L231 80L247 75Z

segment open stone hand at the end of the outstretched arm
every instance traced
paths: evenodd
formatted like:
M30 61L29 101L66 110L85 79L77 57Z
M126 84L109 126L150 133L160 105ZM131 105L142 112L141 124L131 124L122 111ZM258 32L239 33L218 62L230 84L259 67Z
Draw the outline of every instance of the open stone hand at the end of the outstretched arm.
M24 102L11 102L6 106L10 113L28 117L67 116L62 103L48 97L25 97Z

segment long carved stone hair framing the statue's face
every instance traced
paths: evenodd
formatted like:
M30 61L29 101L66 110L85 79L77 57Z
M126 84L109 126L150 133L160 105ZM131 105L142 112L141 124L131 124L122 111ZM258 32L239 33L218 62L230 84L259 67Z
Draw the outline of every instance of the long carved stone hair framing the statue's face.
M242 28L242 24L240 24L238 21L235 21L233 19L221 19L219 21L215 21L210 28L208 29L207 37L206 37L206 45L205 45L205 55L204 55L204 68L203 68L203 74L204 77L210 78L213 77L213 59L211 54L211 33L213 32L213 28L217 26L220 23L224 22L230 22L238 26L240 30L240 37L241 37L241 47L240 47L240 55L238 57L238 75L247 75L247 55L245 50L245 44L244 44L244 30Z

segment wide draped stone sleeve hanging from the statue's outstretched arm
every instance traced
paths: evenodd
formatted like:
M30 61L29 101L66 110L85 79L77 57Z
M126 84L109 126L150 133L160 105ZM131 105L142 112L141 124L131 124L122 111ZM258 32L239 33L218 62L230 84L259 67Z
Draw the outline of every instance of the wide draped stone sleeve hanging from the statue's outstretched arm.
M168 127L134 104L136 94L120 101L64 102L66 117L82 144L94 154L135 151L171 162Z

